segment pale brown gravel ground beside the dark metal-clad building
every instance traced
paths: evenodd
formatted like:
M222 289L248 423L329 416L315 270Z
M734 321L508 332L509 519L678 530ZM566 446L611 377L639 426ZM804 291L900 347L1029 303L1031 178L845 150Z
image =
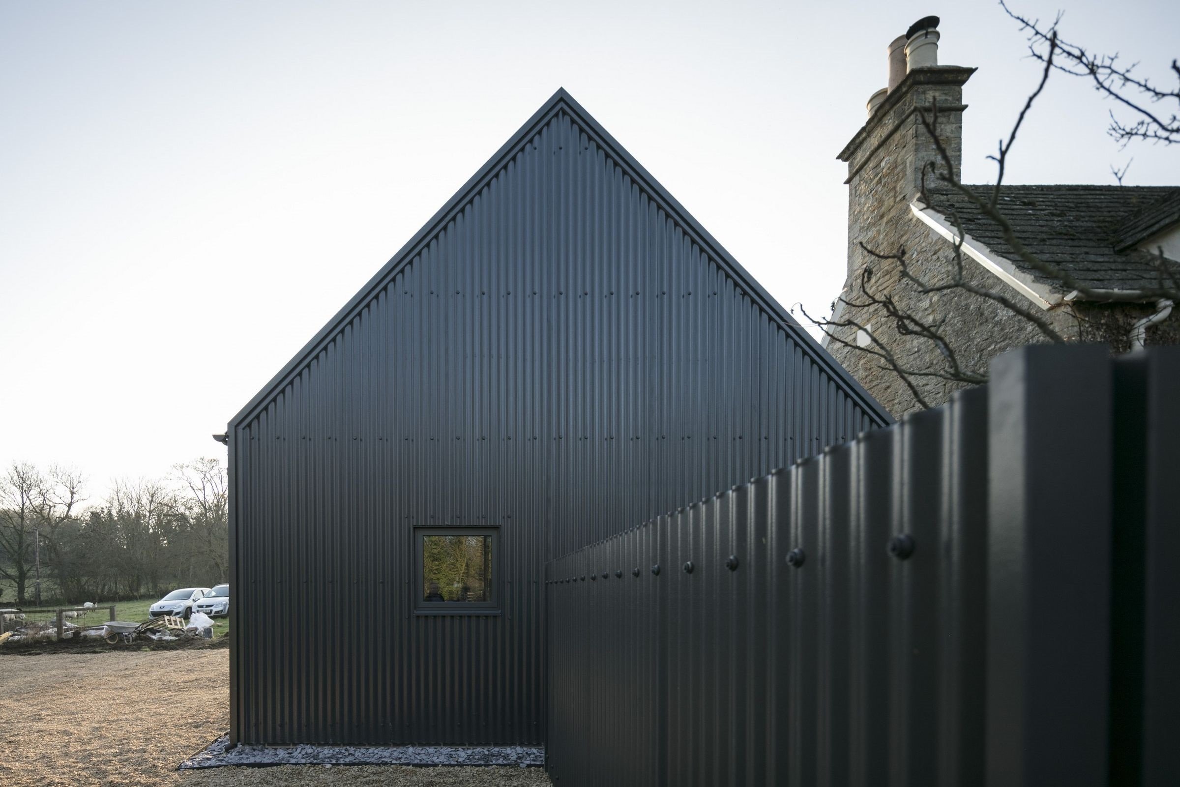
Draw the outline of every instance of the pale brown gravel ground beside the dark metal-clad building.
M202 680L192 680L199 676ZM496 785L539 768L282 766L177 772L229 727L229 652L0 655L0 785Z

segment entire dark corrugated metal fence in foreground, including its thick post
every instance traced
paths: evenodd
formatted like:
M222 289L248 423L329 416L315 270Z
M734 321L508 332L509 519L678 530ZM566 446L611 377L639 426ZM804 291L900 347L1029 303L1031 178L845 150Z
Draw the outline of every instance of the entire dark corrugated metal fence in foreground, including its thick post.
M1180 353L1028 347L556 559L550 776L1180 783L1178 486Z

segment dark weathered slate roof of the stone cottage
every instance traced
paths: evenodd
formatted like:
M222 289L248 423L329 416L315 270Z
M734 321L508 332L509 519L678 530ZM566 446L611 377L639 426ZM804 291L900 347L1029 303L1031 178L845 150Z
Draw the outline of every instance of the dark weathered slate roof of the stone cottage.
M968 186L983 198L990 185ZM1180 186L1005 185L999 210L1016 237L1037 257L1067 270L1093 289L1135 289L1160 284L1156 257L1133 248L1180 219ZM1054 290L1067 288L1036 273L1004 241L999 225L965 196L930 192L931 208L994 254ZM1180 271L1180 263L1176 264Z

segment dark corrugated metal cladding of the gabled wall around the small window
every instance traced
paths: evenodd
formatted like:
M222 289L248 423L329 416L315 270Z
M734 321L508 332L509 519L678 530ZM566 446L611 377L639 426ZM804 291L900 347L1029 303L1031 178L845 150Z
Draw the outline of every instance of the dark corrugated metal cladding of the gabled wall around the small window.
M559 91L231 422L232 735L539 742L545 559L887 421ZM413 614L441 525L502 616Z

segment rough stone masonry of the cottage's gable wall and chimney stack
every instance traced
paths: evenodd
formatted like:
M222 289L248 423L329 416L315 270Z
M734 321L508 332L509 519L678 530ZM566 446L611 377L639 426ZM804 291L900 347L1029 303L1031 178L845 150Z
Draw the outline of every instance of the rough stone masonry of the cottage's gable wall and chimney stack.
M933 139L918 116L919 110L939 107L937 131L956 169L962 160L963 110L962 86L970 68L953 66L911 72L865 127L841 152L848 163L848 254L847 281L841 297L859 302L860 282L866 268L872 268L871 290L892 296L903 310L930 324L958 355L964 369L985 372L996 355L1048 339L1031 322L1003 306L964 290L926 294L911 282L902 281L894 261L881 261L865 251L896 254L905 250L912 273L930 283L945 283L956 267L953 245L919 221L910 210L918 195L922 171L927 163L942 166ZM929 176L927 176L929 177ZM861 245L863 244L863 245ZM1129 346L1127 334L1135 320L1154 311L1150 304L1101 306L1066 304L1049 311L1010 289L970 257L963 257L964 277L972 284L1028 306L1044 316L1054 329L1070 341L1104 341L1116 352ZM841 320L870 324L872 334L897 355L899 362L918 372L945 368L937 345L914 336L902 336L879 308L841 307ZM920 409L905 382L884 362L856 348L856 328L833 332L853 347L830 340L827 348L853 376L894 417ZM1148 332L1148 343L1180 340L1180 319L1169 320ZM966 383L938 376L910 378L930 406L945 404L951 393Z

